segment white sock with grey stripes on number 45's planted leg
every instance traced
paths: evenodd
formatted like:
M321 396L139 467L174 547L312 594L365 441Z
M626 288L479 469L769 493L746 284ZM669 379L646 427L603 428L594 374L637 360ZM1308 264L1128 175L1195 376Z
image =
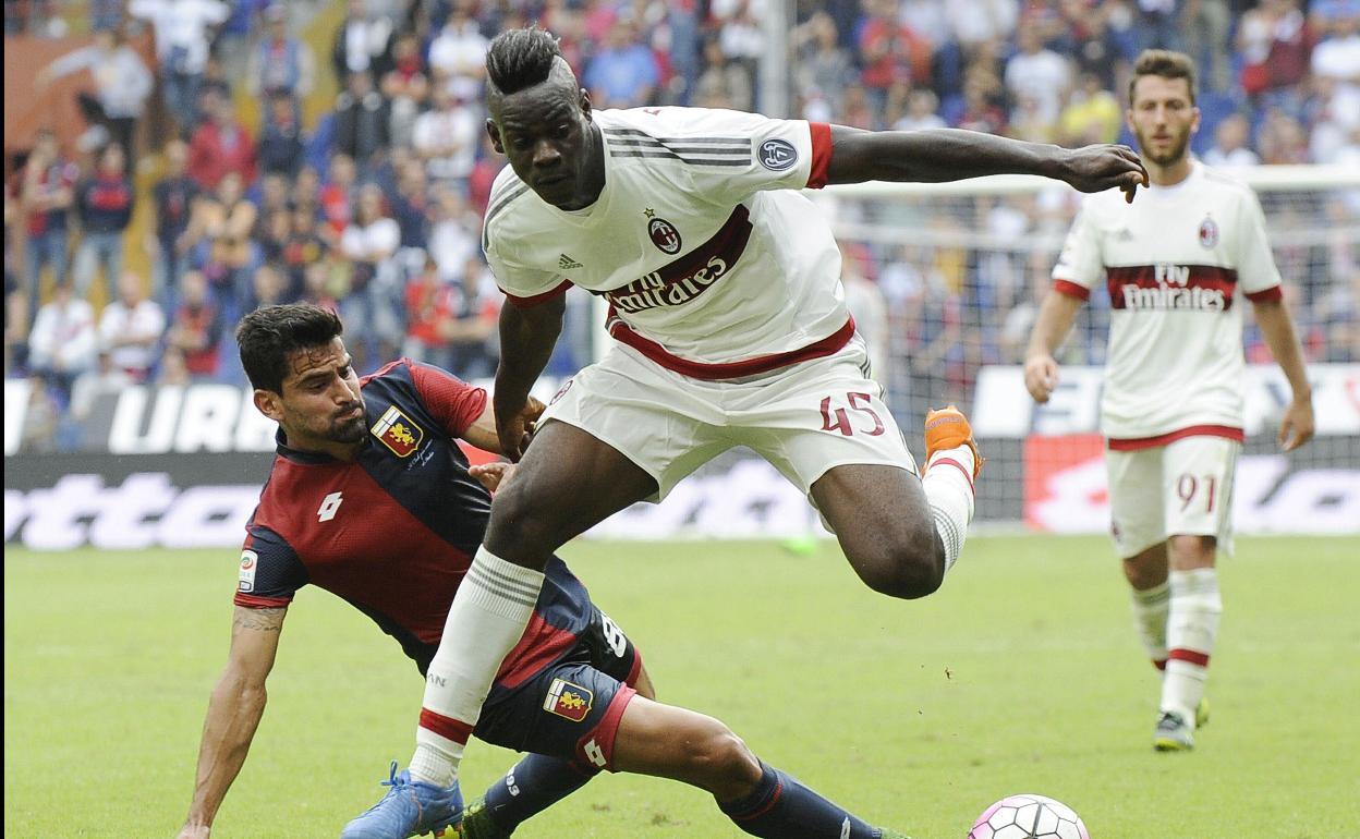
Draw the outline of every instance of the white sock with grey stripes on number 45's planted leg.
M450 786L462 749L500 662L533 615L543 574L509 563L486 548L477 555L449 606L439 650L426 673L411 778Z

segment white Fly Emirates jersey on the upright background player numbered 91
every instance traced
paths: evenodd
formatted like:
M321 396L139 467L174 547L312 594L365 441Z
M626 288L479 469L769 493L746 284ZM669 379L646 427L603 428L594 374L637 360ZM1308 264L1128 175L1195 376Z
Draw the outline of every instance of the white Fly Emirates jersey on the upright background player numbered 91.
M1190 434L1240 441L1242 296L1280 298L1255 193L1194 162L1185 181L1153 185L1133 204L1117 189L1087 196L1054 288L1087 299L1102 277L1112 309L1100 404L1111 447Z

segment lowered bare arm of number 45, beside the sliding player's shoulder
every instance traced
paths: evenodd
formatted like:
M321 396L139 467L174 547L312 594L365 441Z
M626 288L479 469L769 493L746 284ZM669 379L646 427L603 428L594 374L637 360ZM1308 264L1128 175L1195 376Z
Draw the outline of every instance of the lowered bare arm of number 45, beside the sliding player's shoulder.
M533 420L537 419L528 413L529 388L548 366L566 310L564 295L537 306L507 303L500 309L500 364L496 367L496 389L491 401L500 454L511 461L524 457L524 450L529 446Z

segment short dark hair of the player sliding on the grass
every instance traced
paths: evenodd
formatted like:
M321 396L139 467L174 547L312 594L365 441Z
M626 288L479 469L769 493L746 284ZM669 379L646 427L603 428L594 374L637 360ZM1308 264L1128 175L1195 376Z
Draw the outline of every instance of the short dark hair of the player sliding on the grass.
M252 388L283 393L288 356L325 347L343 332L344 324L333 311L313 303L261 306L237 326L241 366Z

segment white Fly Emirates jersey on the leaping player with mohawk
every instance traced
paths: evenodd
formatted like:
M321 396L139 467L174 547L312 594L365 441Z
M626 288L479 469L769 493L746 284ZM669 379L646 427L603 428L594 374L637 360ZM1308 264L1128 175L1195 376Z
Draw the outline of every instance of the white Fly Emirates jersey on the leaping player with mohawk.
M831 355L854 333L840 252L813 204L831 128L695 107L596 112L605 184L590 207L543 201L507 166L481 245L510 302L579 286L609 333L695 378Z

